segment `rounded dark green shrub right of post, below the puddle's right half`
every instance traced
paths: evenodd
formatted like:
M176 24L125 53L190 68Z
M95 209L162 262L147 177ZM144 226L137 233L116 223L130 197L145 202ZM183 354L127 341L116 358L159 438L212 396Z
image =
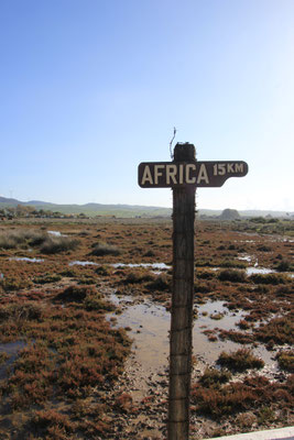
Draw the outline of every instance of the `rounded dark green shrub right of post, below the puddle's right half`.
M262 359L254 356L249 349L239 349L233 353L221 352L217 363L238 372L244 372L248 369L262 369L264 366Z

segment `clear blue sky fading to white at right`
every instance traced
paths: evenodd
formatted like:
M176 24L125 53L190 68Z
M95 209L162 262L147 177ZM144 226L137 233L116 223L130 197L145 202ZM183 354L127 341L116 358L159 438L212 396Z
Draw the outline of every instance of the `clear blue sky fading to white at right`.
M0 195L172 206L177 142L249 174L198 208L294 210L293 0L1 0Z

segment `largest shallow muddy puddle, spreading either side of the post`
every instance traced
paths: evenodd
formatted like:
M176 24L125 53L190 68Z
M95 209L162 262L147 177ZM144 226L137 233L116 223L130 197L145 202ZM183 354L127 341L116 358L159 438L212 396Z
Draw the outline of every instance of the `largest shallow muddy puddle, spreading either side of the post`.
M116 327L130 327L130 337L134 340L135 360L146 372L164 371L168 364L171 314L163 306L145 300L143 304L131 304L132 297L118 297L116 294L110 299L127 307L121 315L109 314L108 319L116 317ZM129 304L128 304L129 302ZM221 351L237 350L239 344L231 341L209 342L203 333L204 330L215 328L230 330L243 316L243 311L233 314L224 307L225 301L213 301L198 306L198 319L193 328L193 353L199 360L199 365L211 364ZM203 316L202 312L207 312ZM221 320L213 320L209 315L225 314Z

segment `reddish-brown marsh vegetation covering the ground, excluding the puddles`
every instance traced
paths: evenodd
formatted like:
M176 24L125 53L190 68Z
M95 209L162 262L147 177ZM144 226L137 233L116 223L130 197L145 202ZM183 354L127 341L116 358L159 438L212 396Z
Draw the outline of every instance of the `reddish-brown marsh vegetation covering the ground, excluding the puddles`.
M111 327L106 319L115 306L104 298L101 287L137 298L148 296L168 309L171 270L159 275L152 268L111 264L170 266L172 224L167 220L42 221L2 223L0 229L0 340L2 344L26 343L14 358L6 353L0 358L4 369L1 411L6 414L0 437L13 439L14 431L32 440L117 439L116 415L129 417L139 409L126 393L118 393L113 402L107 399L123 371L130 340L126 330ZM276 222L246 221L202 221L196 227L195 307L222 300L229 311L244 311L233 330L217 328L217 320L226 320L226 315L210 315L216 328L204 331L207 343L230 339L277 349L275 362L284 372L281 382L264 376L237 381L228 371L208 369L193 386L192 413L219 420L220 426L224 417L231 417L238 429L250 429L253 419L258 426L283 426L292 420L293 352L287 345L294 334L293 278L285 272L293 270L293 244L281 239L279 228ZM292 222L284 222L283 228L293 238ZM67 237L52 238L47 230ZM252 262L239 260L244 255ZM44 261L10 260L15 256ZM74 261L96 265L69 265ZM279 273L247 275L246 267L255 262ZM220 363L233 373L262 367L251 354L248 349L224 353ZM146 398L140 410L151 405ZM15 418L15 414L22 416Z

